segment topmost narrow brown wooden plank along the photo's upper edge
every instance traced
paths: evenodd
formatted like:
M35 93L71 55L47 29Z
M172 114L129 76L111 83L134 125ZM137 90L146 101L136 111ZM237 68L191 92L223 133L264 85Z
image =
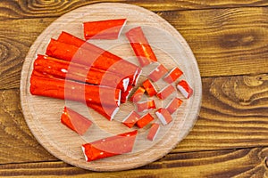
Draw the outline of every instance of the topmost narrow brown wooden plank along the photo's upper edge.
M70 12L73 9L87 4L102 3L104 1L46 1L46 0L2 0L0 2L0 20L4 19L21 19L21 18L37 18L37 17L57 17L63 13ZM267 6L265 0L215 0L203 1L198 0L168 0L150 2L130 1L130 0L110 0L105 1L114 3L137 4L145 7L150 11L177 11L177 10L196 10L196 9L215 9L227 7L245 7L245 6Z

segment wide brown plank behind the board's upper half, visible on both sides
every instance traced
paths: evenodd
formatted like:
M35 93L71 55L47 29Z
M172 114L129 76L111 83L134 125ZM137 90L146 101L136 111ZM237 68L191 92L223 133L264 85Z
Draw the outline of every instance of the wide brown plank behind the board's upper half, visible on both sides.
M268 7L160 13L188 41L202 77L268 71ZM1 20L0 89L18 88L21 65L35 38L55 18Z

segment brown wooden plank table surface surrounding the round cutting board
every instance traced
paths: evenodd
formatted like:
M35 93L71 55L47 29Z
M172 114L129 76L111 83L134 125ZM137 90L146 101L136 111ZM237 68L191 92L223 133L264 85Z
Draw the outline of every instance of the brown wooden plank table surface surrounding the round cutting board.
M21 112L24 58L51 22L97 2L0 2L0 176L268 177L267 0L114 1L157 13L188 41L203 84L194 129L166 157L114 173L70 166L38 144Z

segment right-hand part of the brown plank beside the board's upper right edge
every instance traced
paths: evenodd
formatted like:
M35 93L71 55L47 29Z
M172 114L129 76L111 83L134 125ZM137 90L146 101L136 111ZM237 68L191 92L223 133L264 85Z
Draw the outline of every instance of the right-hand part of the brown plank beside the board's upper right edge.
M163 12L196 55L202 77L266 73L268 8Z

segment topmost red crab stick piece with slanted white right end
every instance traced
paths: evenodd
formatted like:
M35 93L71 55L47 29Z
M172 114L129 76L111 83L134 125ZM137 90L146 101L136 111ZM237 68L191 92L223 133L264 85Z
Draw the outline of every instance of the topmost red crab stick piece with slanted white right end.
M117 39L127 19L84 22L85 39Z

